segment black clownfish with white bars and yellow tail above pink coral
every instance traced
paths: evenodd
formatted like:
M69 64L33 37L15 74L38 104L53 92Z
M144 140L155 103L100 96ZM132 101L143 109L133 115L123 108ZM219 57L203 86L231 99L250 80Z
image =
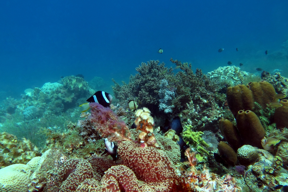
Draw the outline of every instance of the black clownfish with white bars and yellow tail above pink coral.
M104 91L97 91L96 93L94 93L94 95L89 97L86 101L88 101L89 103L99 103L103 107L109 107L112 99L113 97L111 94L106 93ZM83 108L83 111L81 111L81 113L88 111L90 109L89 103L83 103L82 105L79 105L79 107Z

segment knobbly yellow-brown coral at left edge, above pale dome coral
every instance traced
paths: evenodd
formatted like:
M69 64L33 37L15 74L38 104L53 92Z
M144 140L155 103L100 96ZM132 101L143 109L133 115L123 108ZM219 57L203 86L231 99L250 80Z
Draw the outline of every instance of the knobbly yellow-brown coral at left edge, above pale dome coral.
M26 164L32 158L40 156L39 149L29 140L18 140L6 132L0 133L0 168L12 164Z

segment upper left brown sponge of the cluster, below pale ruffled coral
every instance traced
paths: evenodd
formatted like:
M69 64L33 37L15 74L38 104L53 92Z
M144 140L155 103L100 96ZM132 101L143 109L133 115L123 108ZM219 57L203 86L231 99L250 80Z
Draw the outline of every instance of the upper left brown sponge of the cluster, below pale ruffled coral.
M246 85L235 85L227 88L227 103L236 118L239 110L252 110L254 100L252 91Z

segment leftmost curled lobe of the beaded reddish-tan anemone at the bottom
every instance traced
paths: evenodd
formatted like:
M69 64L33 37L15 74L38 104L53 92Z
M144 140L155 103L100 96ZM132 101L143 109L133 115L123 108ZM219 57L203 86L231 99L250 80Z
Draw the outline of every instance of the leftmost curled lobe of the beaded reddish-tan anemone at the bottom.
M58 171L60 182L59 192L76 191L85 179L93 177L91 164L85 159L69 159Z

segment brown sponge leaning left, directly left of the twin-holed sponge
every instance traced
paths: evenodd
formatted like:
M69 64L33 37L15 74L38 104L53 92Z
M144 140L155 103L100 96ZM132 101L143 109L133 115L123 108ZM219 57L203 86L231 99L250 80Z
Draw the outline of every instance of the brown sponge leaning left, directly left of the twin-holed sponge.
M227 143L234 149L234 151L237 151L237 149L242 146L242 140L238 129L228 119L222 118L219 120L219 129Z

